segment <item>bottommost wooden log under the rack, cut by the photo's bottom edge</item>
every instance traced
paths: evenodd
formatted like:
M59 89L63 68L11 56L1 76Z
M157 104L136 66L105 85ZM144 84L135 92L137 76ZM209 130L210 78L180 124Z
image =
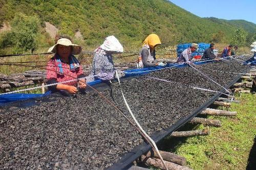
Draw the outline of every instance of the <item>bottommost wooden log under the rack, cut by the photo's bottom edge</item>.
M164 165L163 165L163 163L161 162L160 159L147 158L144 155L141 156L141 159L143 160L143 163L145 163L147 165L152 165L152 166L155 166L155 167L160 168L160 169L165 169ZM164 163L165 163L165 165L167 166L167 168L169 170L191 170L187 166L181 166L181 165L175 164L173 162L164 161Z

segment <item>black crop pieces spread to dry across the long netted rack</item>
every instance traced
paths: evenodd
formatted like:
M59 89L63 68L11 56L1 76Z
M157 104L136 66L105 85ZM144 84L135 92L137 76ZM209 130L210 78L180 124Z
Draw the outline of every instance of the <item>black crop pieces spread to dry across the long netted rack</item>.
M248 69L236 61L197 68L221 85L238 75L206 68ZM127 103L150 135L172 126L215 95L191 86L221 89L191 67L156 71L121 84ZM112 93L106 88L102 94L131 119L117 83L112 85ZM2 113L0 134L1 169L103 169L143 142L127 120L94 91Z

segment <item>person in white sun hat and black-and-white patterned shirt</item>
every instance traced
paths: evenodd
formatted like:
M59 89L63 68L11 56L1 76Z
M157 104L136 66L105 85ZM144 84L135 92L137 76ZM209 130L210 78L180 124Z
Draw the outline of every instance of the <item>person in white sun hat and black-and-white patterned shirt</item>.
M123 53L123 47L118 39L113 35L106 37L103 44L100 45L94 53L92 71L87 82L95 80L110 81L114 79L114 77L117 77L115 75L112 55ZM117 70L117 74L119 77L124 76L124 72L121 70Z

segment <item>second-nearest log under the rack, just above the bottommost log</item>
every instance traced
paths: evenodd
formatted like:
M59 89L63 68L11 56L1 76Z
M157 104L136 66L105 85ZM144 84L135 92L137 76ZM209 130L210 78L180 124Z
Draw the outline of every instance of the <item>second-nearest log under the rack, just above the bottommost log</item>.
M170 152L165 152L165 151L159 151L163 160L169 161L169 162L173 162L179 165L186 165L186 158L180 155L176 155ZM153 157L153 158L158 158L160 159L160 157L157 155L157 153L153 150L147 152L145 154L146 157Z

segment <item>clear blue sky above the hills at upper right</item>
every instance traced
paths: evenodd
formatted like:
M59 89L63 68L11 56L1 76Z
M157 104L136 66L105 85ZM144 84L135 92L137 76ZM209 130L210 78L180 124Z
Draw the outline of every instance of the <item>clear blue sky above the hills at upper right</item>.
M169 0L200 17L244 19L256 24L256 0Z

